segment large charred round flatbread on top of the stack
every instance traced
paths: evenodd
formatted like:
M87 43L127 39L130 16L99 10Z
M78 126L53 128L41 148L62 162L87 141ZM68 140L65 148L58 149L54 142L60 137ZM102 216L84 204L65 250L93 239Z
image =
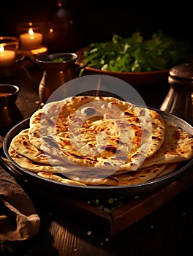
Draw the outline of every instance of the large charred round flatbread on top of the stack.
M31 116L29 140L48 154L83 167L137 170L164 141L154 110L113 97L69 97ZM111 174L111 173L110 173Z

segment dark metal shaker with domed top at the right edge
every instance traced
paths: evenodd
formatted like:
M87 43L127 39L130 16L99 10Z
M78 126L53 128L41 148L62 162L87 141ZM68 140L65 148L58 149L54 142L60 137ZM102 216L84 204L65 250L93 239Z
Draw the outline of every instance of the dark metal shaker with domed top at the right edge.
M170 90L160 109L193 124L193 63L179 64L170 69L168 83Z

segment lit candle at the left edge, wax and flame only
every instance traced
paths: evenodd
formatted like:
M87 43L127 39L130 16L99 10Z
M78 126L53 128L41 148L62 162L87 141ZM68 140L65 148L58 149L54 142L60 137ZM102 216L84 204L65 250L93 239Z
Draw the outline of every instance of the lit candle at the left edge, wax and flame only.
M0 67L12 66L15 62L15 51L4 50L4 46L0 45Z

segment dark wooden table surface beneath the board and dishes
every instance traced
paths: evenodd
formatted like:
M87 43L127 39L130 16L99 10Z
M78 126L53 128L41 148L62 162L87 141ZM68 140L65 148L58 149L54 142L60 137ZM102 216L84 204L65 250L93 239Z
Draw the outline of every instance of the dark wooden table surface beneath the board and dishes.
M20 64L14 75L0 83L20 87L17 105L23 118L38 108L42 69L30 61ZM137 89L149 107L159 108L169 90L166 83ZM6 242L0 255L186 255L193 249L193 187L184 189L155 211L114 236L94 229L89 221L70 216L65 204L45 193L24 187L41 219L39 234L31 241ZM67 212L68 214L65 214ZM77 212L77 214L79 214Z

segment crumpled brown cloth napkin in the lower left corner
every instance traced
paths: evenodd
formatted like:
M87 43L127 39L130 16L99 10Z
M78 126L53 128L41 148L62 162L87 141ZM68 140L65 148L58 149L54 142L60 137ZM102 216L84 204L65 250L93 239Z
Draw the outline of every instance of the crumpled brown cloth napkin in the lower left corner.
M0 167L0 241L24 241L39 233L40 219L26 192Z

